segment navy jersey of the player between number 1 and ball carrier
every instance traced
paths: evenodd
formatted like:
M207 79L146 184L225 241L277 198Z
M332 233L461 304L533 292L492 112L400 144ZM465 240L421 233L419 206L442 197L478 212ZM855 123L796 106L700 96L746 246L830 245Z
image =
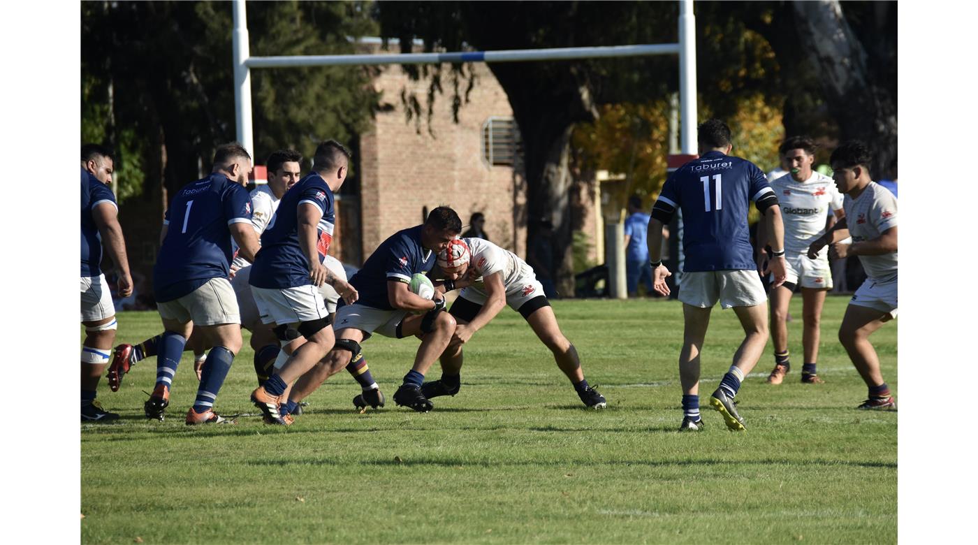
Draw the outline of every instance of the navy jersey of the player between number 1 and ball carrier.
M323 212L317 229L319 258L330 250L333 242L333 190L317 173L302 178L282 196L272 220L261 234L261 250L251 265L251 286L286 289L311 284L309 260L299 246L299 204L313 204Z

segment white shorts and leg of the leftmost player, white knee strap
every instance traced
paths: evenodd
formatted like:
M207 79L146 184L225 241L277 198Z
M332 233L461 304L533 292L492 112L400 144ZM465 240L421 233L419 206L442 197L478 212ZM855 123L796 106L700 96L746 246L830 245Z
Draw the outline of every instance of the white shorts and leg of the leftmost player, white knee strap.
M109 422L119 416L103 409L96 396L115 340L115 307L105 275L80 278L81 323L85 327L80 358L81 421Z

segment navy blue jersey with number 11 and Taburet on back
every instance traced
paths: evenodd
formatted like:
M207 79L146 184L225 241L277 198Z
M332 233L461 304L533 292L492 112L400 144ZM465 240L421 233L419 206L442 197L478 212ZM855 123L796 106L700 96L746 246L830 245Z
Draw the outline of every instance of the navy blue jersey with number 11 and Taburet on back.
M751 201L774 193L749 160L709 152L673 172L659 201L683 210L683 270L753 270L747 232Z

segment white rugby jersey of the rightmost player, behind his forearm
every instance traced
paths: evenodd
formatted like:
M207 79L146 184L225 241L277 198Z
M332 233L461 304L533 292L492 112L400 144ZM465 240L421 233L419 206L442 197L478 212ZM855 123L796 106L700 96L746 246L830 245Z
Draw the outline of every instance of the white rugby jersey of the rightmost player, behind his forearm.
M846 224L854 243L878 239L883 231L897 226L897 198L890 190L869 182L857 199L848 195L843 202ZM869 282L897 279L897 252L882 255L860 255Z

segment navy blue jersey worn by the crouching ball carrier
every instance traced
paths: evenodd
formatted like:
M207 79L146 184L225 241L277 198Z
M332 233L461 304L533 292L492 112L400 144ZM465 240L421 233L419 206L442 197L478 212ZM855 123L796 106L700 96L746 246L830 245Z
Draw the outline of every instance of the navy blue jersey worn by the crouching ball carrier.
M350 279L360 297L355 304L380 310L393 310L387 298L387 282L411 282L415 273L427 273L434 267L434 252L422 247L422 225L394 233L380 244Z

